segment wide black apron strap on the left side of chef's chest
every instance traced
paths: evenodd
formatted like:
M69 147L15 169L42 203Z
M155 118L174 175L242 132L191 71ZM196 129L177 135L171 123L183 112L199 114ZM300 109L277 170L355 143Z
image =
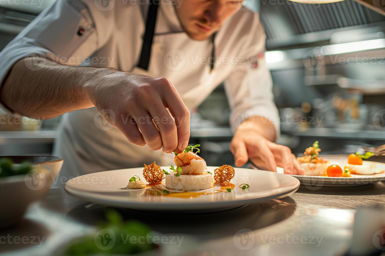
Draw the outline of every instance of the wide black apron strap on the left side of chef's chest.
M151 57L152 39L154 38L156 15L158 11L159 0L152 0L148 8L146 30L144 31L141 56L138 67L147 70Z

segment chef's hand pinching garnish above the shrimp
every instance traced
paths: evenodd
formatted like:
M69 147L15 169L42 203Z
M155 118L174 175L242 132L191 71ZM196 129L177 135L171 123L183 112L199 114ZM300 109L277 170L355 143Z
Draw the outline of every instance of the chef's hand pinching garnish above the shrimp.
M190 113L168 79L112 69L103 72L87 83L87 94L99 111L114 112L116 121L112 125L129 142L140 147L147 144L151 150L163 148L165 153L187 147Z

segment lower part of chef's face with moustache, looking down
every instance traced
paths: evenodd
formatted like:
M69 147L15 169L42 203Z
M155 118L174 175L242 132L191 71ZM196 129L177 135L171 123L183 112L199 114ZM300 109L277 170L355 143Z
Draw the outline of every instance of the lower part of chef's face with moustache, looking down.
M205 40L218 31L227 18L240 10L243 0L183 0L176 13L192 39Z

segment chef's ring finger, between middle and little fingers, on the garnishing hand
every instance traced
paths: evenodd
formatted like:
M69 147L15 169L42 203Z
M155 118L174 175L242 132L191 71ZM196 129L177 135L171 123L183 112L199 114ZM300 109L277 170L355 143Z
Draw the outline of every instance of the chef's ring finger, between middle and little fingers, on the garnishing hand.
M135 122L142 133L143 139L151 150L162 148L162 139L158 129L156 129L150 114L142 109L134 110Z

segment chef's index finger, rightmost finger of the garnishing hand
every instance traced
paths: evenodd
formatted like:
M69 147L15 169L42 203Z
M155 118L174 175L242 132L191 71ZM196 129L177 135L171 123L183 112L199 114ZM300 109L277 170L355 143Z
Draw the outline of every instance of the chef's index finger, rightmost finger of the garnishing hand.
M178 134L178 148L186 149L190 139L190 112L179 96L174 85L168 80L164 85L168 90L164 93L164 103L175 119Z

